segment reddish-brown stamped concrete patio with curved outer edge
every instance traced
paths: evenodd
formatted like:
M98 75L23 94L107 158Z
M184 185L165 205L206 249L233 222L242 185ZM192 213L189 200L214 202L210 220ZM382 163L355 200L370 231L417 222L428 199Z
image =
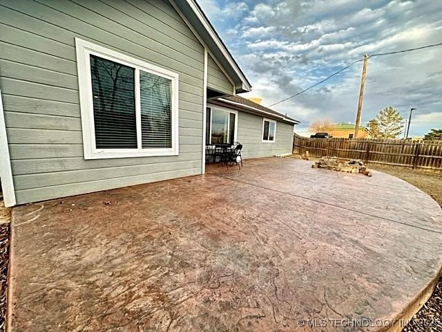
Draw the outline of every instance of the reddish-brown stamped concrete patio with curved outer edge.
M15 208L10 328L384 331L431 291L441 208L386 174L310 167L247 160Z

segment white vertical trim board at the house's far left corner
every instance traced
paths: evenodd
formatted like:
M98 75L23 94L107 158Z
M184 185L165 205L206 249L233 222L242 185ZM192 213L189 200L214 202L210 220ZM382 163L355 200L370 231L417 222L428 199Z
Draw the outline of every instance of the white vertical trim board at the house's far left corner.
M1 190L3 192L3 201L5 206L14 206L15 190L14 181L12 181L11 160L9 156L8 136L6 136L5 115L3 113L3 101L0 91L0 179Z

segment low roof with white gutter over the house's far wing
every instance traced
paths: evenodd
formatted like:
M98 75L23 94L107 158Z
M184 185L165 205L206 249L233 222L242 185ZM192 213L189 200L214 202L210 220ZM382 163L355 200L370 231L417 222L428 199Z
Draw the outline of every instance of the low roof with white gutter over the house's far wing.
M266 118L289 122L291 124L300 123L298 120L292 119L289 116L278 113L277 111L273 111L273 109L264 107L256 102L252 102L251 100L243 98L240 95L231 95L229 97L218 98L215 100L210 100L210 102L220 106L229 107L231 109L239 109L240 111L245 111L247 113L258 114L260 116L265 116Z

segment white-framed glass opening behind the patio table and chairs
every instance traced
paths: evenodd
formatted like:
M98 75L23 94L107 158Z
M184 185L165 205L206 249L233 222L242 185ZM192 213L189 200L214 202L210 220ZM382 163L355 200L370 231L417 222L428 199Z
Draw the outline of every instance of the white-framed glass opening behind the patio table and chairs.
M207 104L206 144L231 144L237 141L238 111Z

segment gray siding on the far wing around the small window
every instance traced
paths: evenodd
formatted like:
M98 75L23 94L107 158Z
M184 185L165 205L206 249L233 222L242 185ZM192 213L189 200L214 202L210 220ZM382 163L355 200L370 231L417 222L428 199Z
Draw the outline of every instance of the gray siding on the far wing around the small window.
M260 158L291 154L293 144L293 124L276 123L275 142L262 142L262 116L238 112L237 140L244 145L243 158Z

